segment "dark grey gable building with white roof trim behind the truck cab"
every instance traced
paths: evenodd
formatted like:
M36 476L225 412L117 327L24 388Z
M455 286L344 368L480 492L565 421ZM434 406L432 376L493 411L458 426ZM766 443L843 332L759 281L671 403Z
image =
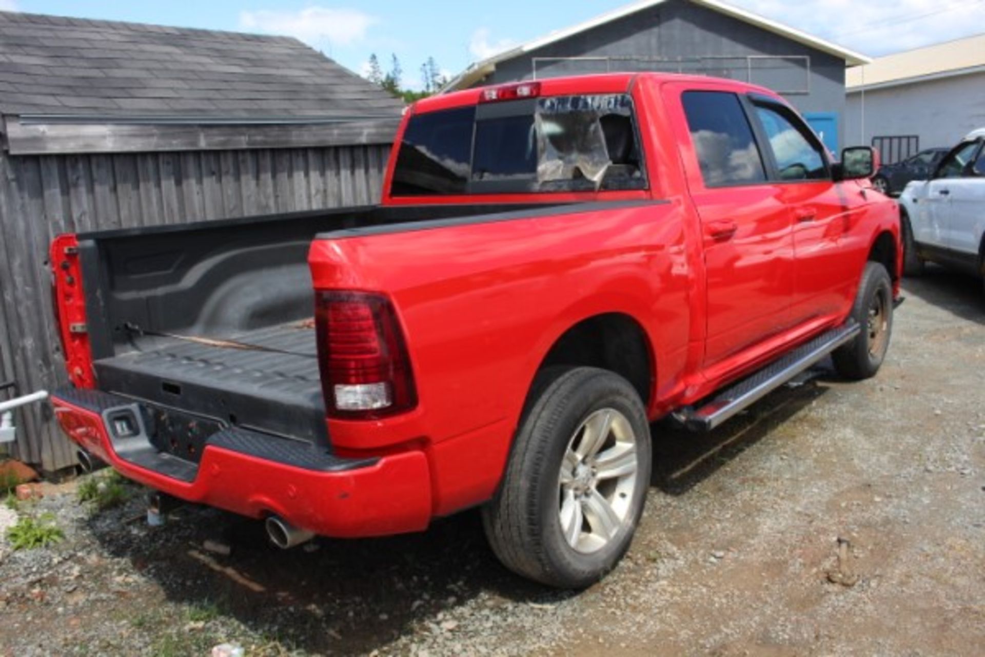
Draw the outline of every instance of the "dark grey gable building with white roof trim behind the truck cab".
M648 0L473 64L447 89L617 71L731 78L783 94L837 151L845 68L868 61L717 0Z

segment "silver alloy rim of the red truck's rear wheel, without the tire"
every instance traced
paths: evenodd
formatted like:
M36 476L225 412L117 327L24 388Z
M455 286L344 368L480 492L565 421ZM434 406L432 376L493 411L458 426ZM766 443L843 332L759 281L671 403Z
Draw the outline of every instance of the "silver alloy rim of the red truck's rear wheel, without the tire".
M636 434L619 411L589 415L568 440L558 474L558 519L575 552L605 548L623 528L636 492Z

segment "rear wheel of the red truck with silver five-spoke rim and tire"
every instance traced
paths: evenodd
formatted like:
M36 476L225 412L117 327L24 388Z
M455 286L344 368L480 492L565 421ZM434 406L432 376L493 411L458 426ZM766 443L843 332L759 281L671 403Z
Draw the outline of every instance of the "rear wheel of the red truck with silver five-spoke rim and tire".
M584 588L623 558L642 514L652 466L646 411L628 381L595 367L552 368L533 389L483 524L510 570Z

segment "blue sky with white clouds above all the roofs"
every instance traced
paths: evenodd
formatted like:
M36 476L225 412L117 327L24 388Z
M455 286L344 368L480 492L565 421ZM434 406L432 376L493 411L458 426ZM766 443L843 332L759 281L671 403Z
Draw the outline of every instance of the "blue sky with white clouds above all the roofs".
M727 0L870 56L985 32L985 0ZM399 58L406 87L433 57L447 76L518 43L624 6L624 0L0 0L0 10L296 36L365 72Z

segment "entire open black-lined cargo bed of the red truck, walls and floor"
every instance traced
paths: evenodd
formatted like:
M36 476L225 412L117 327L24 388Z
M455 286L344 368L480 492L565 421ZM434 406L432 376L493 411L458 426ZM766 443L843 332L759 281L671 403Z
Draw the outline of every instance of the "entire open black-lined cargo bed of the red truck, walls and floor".
M172 422L230 426L327 447L307 263L315 235L527 217L517 211L529 207L341 208L81 234L99 390L146 402L162 434Z

